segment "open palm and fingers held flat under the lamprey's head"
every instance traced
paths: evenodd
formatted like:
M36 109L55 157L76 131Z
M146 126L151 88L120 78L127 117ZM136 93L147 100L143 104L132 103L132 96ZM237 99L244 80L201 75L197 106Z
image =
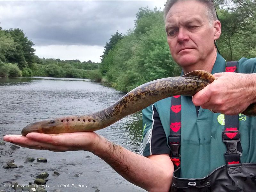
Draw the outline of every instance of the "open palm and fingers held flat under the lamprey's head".
M8 141L21 147L31 149L45 149L50 151L92 151L99 143L100 136L95 132L61 133L48 135L43 133L28 133L26 137L21 135L5 135L4 141Z

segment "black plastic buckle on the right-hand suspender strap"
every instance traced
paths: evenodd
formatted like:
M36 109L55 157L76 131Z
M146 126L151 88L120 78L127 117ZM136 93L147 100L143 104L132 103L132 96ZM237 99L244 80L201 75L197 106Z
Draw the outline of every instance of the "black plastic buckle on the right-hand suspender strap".
M225 139L225 133L237 133L238 134L238 139ZM237 151L237 143L240 141L240 132L239 131L223 131L222 132L222 140L224 143L226 143L226 147L227 147L227 152L224 154L227 155L227 154L239 154L240 157L242 156L242 153Z

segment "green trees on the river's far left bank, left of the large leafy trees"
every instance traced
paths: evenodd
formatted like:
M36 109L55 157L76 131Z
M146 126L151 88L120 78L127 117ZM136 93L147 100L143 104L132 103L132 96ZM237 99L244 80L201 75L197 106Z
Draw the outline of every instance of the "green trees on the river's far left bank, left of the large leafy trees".
M101 80L100 63L91 60L40 59L35 55L34 43L19 29L0 28L0 77L70 77Z

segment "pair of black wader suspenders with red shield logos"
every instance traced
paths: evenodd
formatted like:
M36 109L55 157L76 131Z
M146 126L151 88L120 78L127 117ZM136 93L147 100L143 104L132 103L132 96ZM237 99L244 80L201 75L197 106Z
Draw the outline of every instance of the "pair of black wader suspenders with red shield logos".
M236 72L237 61L227 62L226 72ZM238 131L238 115L225 115L225 131L222 132L222 140L226 143L227 152L224 154L226 164L241 163L242 147L240 132ZM174 168L180 167L180 143L181 143L181 97L173 96L170 110L170 135L168 145L171 149L171 160Z

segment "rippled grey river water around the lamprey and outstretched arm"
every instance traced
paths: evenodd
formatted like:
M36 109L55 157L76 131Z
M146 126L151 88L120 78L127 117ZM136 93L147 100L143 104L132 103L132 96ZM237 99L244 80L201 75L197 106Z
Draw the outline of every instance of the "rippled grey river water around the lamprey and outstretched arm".
M110 106L123 95L122 92L88 79L0 78L0 141L3 141L6 134L20 134L22 128L31 122L96 112ZM139 153L142 137L141 118L140 112L132 114L96 132L124 148ZM34 182L38 174L48 172L46 184L50 187L45 188L48 192L56 189L61 192L94 192L97 189L101 192L144 191L126 181L107 163L90 152L57 153L22 147L13 150L11 146L11 143L0 143L0 190L14 191L7 184L18 182L20 185L28 185L28 182ZM47 163L36 160L25 163L27 157L44 157ZM11 159L20 167L2 168L6 161ZM53 174L54 171L60 175Z

